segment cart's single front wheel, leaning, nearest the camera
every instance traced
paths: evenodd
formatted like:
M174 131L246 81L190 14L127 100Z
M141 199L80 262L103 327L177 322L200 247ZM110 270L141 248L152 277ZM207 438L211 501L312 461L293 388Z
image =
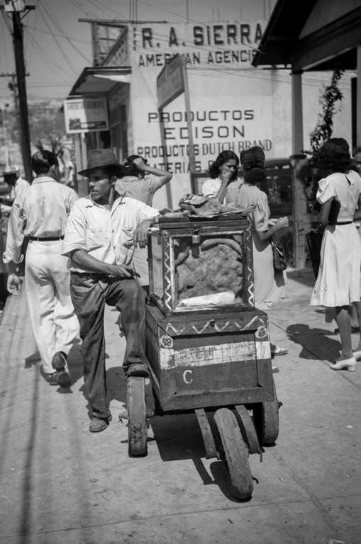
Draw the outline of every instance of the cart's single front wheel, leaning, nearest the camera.
M221 436L224 454L231 476L232 492L238 499L249 499L253 491L253 480L245 445L235 415L228 408L220 408L214 421Z

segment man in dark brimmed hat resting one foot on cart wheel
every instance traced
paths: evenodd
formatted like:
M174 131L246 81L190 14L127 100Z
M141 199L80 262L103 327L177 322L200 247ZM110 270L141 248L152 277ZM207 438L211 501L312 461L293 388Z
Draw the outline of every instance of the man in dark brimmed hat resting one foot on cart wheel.
M121 311L126 336L126 376L147 376L145 291L132 266L136 244L145 246L158 212L145 203L118 196L114 186L123 175L111 149L90 152L89 196L72 208L63 244L70 257L70 293L80 322L84 357L84 393L89 401L89 431L106 429L111 419L106 399L104 307Z

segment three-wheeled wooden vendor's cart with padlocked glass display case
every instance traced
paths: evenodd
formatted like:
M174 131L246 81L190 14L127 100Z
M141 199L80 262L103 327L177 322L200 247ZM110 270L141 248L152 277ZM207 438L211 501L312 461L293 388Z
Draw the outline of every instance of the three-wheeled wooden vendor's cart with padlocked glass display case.
M148 247L155 402L146 401L143 378L128 378L129 453L147 453L147 413L194 411L206 457L226 460L233 494L248 499L248 456L277 440L279 404L267 314L254 307L247 216L160 222Z

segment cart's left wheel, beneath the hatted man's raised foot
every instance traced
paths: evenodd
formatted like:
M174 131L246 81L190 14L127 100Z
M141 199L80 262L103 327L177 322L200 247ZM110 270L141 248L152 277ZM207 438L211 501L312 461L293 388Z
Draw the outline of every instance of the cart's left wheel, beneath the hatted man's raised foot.
M129 455L147 455L144 378L133 376L127 379L127 407Z

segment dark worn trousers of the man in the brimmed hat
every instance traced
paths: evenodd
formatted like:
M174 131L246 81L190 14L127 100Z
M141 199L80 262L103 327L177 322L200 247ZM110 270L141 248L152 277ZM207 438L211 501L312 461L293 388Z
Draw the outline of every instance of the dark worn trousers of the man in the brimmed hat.
M79 319L84 358L84 395L90 414L109 417L106 399L104 308L115 306L121 312L126 336L123 368L132 363L148 367L145 357L145 292L134 279L119 280L87 273L71 273L70 294Z

